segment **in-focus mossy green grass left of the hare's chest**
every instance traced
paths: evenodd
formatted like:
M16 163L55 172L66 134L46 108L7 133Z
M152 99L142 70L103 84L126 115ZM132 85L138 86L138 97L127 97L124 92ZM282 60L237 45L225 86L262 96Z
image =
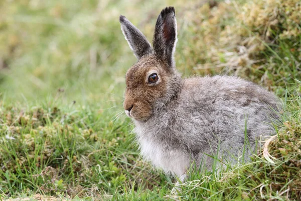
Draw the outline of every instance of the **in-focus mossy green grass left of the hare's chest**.
M3 121L10 125L2 127L4 194L29 189L70 196L112 194L120 192L125 181L147 187L160 182L160 175L147 175L147 165L137 159L128 123L112 122L106 112L95 114L92 108L75 107L2 111Z

